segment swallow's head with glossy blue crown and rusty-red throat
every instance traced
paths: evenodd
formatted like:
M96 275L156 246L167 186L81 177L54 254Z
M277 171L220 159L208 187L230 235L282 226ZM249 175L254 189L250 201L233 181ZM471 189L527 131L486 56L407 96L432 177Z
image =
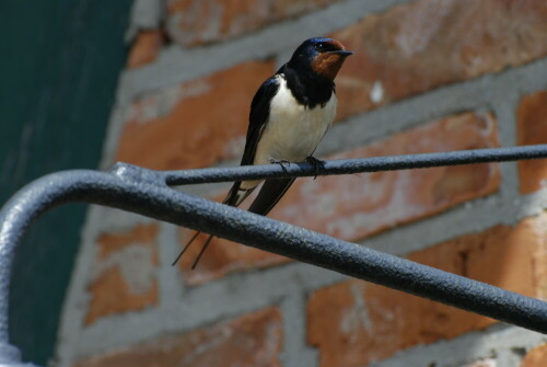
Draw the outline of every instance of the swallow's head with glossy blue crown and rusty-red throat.
M309 69L312 72L334 80L346 57L353 53L333 38L310 38L300 45L289 61L296 69Z

